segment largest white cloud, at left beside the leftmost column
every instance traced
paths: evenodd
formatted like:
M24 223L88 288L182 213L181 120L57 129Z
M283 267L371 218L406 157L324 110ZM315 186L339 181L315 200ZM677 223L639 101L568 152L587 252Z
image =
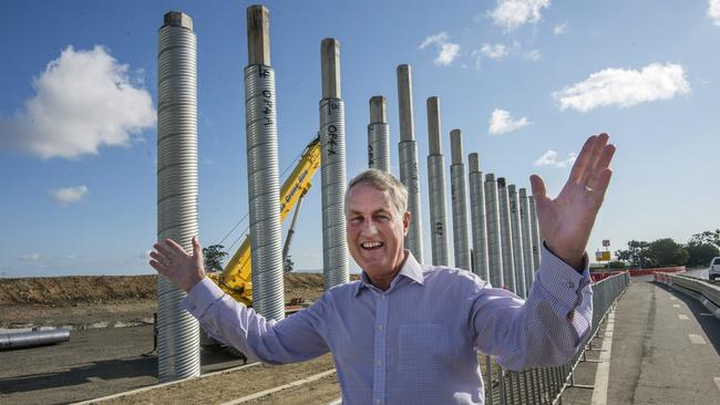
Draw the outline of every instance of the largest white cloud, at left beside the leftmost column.
M103 46L68 46L33 79L35 95L0 117L0 146L43 159L127 146L133 134L155 124L150 93L127 71Z

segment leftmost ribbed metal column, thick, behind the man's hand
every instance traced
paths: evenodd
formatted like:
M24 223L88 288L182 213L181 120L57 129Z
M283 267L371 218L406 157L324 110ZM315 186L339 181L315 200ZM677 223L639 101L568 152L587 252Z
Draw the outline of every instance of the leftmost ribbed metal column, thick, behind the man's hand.
M171 238L186 251L198 233L196 46L189 15L166 13L157 51L157 240ZM181 307L183 298L183 290L158 276L161 383L200 374L199 326Z

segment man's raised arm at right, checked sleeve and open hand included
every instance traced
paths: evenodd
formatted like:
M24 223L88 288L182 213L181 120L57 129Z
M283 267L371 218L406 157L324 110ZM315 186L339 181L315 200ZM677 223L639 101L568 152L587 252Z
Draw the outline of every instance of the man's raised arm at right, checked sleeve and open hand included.
M600 134L585 142L554 199L539 176L531 177L544 246L527 302L497 289L477 293L476 346L511 368L564 363L589 332L593 301L585 249L613 175L616 148L608 139Z

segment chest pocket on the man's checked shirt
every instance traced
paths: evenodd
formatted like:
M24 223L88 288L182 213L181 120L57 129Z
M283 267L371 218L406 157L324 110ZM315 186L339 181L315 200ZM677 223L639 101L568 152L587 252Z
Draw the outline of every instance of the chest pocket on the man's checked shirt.
M438 383L452 363L448 325L413 323L400 325L399 368L411 386Z

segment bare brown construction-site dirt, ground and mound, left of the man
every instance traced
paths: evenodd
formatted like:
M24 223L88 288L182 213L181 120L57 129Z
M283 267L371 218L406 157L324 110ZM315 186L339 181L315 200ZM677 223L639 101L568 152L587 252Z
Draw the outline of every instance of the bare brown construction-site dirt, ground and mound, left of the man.
M285 290L287 301L313 301L322 293L322 276L286 274ZM0 279L0 328L71 329L65 343L0 352L0 403L73 403L156 385L157 357L151 353L155 294L155 276ZM240 367L240 360L219 347L203 349L200 363L203 374L228 372L106 403L223 403L332 370L330 355ZM332 373L287 391L292 395L284 391L256 401L315 404L340 395Z

